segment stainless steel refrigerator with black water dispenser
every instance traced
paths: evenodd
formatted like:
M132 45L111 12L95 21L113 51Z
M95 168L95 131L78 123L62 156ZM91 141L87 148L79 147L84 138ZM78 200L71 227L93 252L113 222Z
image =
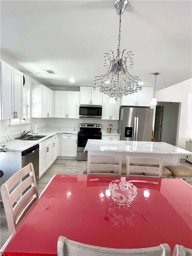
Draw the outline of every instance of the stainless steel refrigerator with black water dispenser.
M123 107L118 132L120 140L151 141L153 109Z

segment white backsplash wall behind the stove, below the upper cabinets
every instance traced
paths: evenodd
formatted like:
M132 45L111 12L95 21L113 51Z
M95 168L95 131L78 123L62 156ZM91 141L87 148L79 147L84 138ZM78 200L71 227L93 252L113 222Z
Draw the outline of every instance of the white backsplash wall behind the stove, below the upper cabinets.
M118 120L102 120L100 118L46 118L46 125L48 127L76 127L79 128L81 123L93 123L93 124L101 124L101 129L106 129L108 124L111 123L113 125L113 129L118 129Z

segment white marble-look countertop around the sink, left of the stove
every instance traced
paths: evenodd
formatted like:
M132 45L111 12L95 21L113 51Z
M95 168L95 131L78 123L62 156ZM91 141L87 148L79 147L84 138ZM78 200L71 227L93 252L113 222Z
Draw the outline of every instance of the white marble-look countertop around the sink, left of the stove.
M2 142L0 145L6 145L6 151L9 152L9 151L16 151L16 152L22 152L34 145L37 145L39 143L41 143L42 141L48 139L49 137L52 137L58 133L66 133L66 134L77 134L79 130L61 130L61 131L58 131L58 130L45 130L45 131L42 131L42 132L39 132L37 134L34 134L34 135L46 135L46 137L43 137L42 139L39 139L39 140L16 140L16 139L13 139L13 140L10 140L10 141L5 141L5 142Z

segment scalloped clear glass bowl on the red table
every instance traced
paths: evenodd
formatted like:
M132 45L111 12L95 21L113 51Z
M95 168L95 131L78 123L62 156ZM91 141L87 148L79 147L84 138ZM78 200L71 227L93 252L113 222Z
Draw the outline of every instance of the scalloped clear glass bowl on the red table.
M109 191L113 201L120 205L129 205L137 195L137 188L126 180L113 180Z

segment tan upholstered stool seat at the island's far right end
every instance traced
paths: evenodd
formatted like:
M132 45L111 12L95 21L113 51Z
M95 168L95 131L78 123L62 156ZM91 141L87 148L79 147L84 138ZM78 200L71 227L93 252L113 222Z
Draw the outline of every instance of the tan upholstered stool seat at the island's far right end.
M171 173L174 179L192 179L192 168L189 166L165 166Z

